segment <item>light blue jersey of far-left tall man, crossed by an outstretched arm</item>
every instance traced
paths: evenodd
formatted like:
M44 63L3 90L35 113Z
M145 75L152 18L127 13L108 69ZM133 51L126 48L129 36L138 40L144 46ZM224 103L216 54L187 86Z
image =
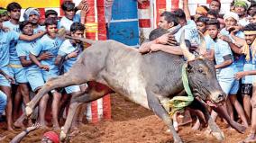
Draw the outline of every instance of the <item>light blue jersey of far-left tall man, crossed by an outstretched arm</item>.
M9 28L11 31L15 31L17 33L21 33L19 24L14 24L10 21L3 22L3 26ZM21 61L18 58L17 51L16 51L16 45L17 45L17 40L12 40L10 43L10 64L14 65L21 65Z

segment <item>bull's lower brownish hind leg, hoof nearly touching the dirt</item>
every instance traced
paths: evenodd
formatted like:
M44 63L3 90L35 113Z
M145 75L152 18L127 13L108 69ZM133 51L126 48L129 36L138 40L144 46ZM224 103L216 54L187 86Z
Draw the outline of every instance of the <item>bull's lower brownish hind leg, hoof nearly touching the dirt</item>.
M65 139L67 138L74 115L75 115L75 113L78 109L78 106L80 104L90 103L92 101L95 101L95 100L103 97L105 94L109 94L112 92L109 88L103 88L102 90L97 91L96 85L94 85L93 87L89 86L88 88L89 89L88 89L87 94L83 94L82 96L72 97L71 103L69 106L69 113L68 113L67 120L65 122L64 127L61 128L60 135L59 135L59 139L61 142L65 141Z

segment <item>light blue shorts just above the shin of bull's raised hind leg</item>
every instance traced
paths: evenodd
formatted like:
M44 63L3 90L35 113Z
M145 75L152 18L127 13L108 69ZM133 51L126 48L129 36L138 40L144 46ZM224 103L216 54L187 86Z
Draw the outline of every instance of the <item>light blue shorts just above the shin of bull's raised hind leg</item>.
M42 85L44 85L41 69L26 71L26 76L33 92L37 91L39 88L41 88Z

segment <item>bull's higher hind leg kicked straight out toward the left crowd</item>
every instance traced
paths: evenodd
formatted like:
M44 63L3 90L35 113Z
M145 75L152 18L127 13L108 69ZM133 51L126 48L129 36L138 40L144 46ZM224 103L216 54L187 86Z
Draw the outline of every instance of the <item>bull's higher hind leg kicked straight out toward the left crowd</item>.
M72 67L68 73L63 76L57 76L54 78L50 78L49 81L45 83L41 87L41 90L36 94L30 103L27 103L25 108L25 112L27 116L32 114L33 108L36 106L37 103L41 100L41 97L44 94L49 93L51 90L59 87L66 87L69 85L81 85L87 82L87 74L83 71L83 65L77 64L76 66Z

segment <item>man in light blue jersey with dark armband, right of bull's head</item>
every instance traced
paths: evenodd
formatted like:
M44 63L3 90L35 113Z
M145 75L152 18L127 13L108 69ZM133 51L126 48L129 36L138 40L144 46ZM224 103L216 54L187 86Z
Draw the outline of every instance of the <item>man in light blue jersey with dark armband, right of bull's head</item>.
M242 123L244 126L248 127L248 122L246 120L245 114L242 110L241 104L238 102L236 98L236 94L238 91L238 81L234 79L234 75L237 73L237 68L233 64L233 53L227 42L224 40L218 39L217 35L219 34L220 23L216 20L210 20L207 22L207 30L210 37L214 40L215 44L215 69L216 76L219 84L221 85L225 94L228 95L228 99L226 100L226 104L229 103L229 100L232 101L236 112L242 119ZM230 104L227 107L232 107ZM228 111L231 112L228 108ZM216 112L212 112L213 119L216 119Z

